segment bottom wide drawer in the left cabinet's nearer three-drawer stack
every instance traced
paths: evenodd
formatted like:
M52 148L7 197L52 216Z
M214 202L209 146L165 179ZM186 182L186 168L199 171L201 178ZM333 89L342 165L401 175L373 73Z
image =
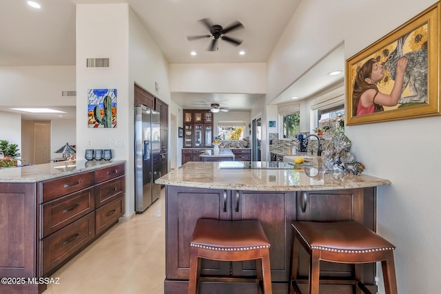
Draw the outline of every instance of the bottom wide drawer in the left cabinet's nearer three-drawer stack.
M43 275L90 243L95 236L95 212L41 240Z

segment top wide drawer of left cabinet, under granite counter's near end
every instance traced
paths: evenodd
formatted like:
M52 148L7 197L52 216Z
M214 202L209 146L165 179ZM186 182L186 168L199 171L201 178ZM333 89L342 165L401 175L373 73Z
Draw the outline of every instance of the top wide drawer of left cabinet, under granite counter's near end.
M42 195L41 202L48 202L50 200L57 199L61 196L74 193L92 187L94 185L94 172L74 174L63 178L57 178L55 180L48 180L41 182Z

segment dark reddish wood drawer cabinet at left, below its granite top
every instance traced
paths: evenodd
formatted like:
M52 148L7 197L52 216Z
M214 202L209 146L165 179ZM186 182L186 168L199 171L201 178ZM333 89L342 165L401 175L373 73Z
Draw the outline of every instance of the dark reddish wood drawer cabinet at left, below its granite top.
M0 183L0 294L38 294L123 216L125 165L43 182Z

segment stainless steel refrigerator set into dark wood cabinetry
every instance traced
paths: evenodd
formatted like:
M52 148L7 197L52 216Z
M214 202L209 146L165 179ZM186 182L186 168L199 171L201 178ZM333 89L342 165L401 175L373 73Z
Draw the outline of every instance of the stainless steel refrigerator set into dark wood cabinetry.
M161 177L159 112L135 105L135 211L143 213L161 193L154 181Z

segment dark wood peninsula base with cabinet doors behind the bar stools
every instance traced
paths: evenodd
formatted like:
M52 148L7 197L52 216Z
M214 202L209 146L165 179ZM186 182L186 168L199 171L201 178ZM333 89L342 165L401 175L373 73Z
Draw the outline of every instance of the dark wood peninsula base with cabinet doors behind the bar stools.
M166 186L165 294L187 293L189 240L198 218L258 219L271 243L273 293L288 293L292 220L357 220L376 227L375 187L333 191L239 191ZM351 265L322 262L320 275L348 277ZM362 280L376 293L375 264L362 267ZM307 279L309 259L300 255L299 274ZM255 276L255 262L203 260L201 275ZM307 280L300 284L307 293ZM320 293L352 294L351 286L327 285ZM200 293L256 293L256 284L201 282ZM291 291L292 293L292 291Z

